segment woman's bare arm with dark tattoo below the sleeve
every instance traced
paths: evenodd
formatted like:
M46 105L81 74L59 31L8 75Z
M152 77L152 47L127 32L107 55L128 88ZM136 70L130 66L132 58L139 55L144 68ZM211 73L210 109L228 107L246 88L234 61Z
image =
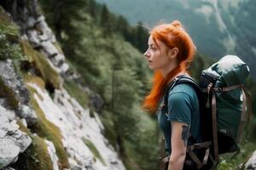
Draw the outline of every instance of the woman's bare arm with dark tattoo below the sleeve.
M172 154L168 170L182 170L189 139L189 125L183 122L172 122L171 139Z

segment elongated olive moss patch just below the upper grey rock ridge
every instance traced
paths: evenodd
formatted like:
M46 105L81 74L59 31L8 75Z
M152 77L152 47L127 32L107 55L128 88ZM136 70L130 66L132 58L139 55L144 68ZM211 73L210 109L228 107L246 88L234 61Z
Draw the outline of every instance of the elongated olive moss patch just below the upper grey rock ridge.
M24 54L32 57L32 63L38 71L38 75L44 79L44 82L50 84L53 88L60 88L61 77L55 69L49 65L49 62L45 59L44 55L33 49L27 41L21 41L20 45Z

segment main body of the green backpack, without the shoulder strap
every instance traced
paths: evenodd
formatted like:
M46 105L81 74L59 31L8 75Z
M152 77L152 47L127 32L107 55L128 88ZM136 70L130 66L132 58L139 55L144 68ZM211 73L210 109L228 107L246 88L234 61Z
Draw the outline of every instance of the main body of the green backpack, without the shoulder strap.
M244 88L248 76L247 64L235 55L226 55L202 71L199 87L205 111L212 116L212 133L209 133L212 136L206 135L206 138L213 142L216 161L218 154L239 150L237 144L252 113L251 94Z

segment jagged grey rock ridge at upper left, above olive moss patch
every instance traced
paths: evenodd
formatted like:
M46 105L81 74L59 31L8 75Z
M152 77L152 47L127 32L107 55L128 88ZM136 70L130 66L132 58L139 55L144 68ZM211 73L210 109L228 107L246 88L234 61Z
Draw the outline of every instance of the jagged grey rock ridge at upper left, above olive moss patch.
M20 26L21 39L28 40L33 48L38 48L54 65L55 71L66 77L69 66L65 62L65 56L55 48L55 35L44 15L39 14L37 0L30 3L26 3L26 0L14 0L9 5L9 13Z

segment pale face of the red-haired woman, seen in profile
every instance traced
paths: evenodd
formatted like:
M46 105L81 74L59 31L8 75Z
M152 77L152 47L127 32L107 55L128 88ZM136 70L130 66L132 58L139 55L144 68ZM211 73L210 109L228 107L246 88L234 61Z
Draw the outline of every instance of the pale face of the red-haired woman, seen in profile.
M152 36L148 38L148 49L145 52L145 57L148 59L148 67L154 71L165 71L170 67L171 59L167 56L166 44L155 39Z

